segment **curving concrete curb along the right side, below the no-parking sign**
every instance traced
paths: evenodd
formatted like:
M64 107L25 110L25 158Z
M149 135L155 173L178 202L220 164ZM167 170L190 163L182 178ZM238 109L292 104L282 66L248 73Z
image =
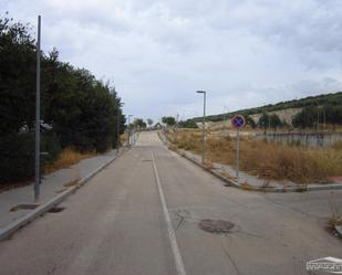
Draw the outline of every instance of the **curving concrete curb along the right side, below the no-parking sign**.
M167 138L162 134L158 133L158 137L160 138L162 142L167 147L168 146L168 140ZM228 179L227 177L220 174L217 171L210 170L205 168L201 163L196 161L195 159L191 159L190 157L186 156L185 154L180 154L179 151L175 150L176 154L178 154L180 157L191 161L196 166L200 167L205 171L211 173L216 178L225 181L228 187L235 187L239 188L241 190L246 191L257 191L257 192L273 192L273 193L287 193L287 192L305 192L305 191L319 191L319 190L339 190L342 189L342 184L324 184L324 186L307 186L307 184L298 184L297 187L253 187L253 186L241 186L235 180ZM341 235L342 235L342 229L340 229Z

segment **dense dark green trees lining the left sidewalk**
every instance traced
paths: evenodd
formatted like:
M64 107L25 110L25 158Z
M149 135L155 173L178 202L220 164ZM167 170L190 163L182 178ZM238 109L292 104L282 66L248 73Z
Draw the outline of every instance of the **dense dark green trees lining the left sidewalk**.
M30 27L0 19L0 183L25 180L34 172L37 46ZM125 117L110 83L59 60L53 50L41 60L43 162L61 149L103 152L115 147ZM118 119L120 117L120 119Z

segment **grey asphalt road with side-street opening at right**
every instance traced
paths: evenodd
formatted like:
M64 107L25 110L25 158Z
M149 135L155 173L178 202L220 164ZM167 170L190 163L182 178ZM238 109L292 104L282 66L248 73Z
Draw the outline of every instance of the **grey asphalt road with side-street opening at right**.
M0 274L310 274L307 261L342 257L341 240L325 229L332 197L341 205L341 191L224 187L145 133L69 197L63 211L1 242ZM198 225L206 219L235 226L209 233Z

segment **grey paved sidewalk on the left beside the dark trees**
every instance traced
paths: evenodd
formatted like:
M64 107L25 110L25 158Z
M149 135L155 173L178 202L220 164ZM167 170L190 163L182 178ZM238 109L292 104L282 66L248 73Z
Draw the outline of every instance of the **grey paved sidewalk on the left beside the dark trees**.
M125 148L121 148L118 155L121 155L124 150ZM116 150L111 150L105 155L83 159L74 166L45 174L40 186L39 203L43 204L53 199L62 191L71 188L68 186L65 187L65 184L71 181L75 181L76 179L83 179L115 157L117 157ZM18 204L33 204L33 182L29 186L11 189L0 193L0 230L32 211L30 209L18 209L17 211L10 210Z

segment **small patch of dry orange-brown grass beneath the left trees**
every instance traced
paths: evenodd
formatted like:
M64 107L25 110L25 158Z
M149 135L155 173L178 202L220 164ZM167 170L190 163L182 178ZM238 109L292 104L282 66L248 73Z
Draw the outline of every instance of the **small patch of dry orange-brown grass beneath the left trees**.
M51 173L56 170L79 163L82 159L94 157L95 152L79 152L73 148L65 148L59 156L58 160L44 167L44 173Z

